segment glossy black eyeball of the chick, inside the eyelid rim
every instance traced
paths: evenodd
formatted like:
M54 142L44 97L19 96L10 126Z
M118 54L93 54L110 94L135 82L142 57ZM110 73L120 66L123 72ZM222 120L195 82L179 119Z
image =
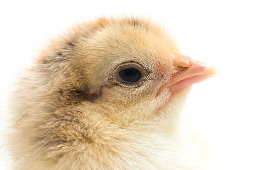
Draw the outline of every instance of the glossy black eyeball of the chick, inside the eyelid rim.
M127 68L121 70L119 72L119 75L121 79L123 79L126 82L136 82L140 77L139 71L135 68Z

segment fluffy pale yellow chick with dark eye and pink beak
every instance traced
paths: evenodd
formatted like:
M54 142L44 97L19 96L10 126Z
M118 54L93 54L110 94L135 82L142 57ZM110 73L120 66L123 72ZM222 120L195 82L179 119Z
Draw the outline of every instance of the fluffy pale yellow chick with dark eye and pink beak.
M198 169L178 119L186 87L214 74L150 20L78 24L52 39L18 84L13 169Z

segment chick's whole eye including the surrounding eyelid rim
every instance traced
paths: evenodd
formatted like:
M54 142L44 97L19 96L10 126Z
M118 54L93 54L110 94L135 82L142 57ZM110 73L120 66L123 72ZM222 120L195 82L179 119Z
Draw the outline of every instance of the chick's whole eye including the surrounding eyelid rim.
M118 84L121 83L132 87L139 86L144 76L143 68L135 62L122 64L115 72L115 78L119 82Z

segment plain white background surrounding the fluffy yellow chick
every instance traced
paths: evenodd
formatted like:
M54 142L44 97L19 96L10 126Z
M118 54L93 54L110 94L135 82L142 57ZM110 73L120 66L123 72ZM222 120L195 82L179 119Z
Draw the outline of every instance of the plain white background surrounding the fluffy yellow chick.
M171 29L182 53L216 66L195 84L184 111L223 170L256 170L256 2L238 0L16 0L0 2L0 143L11 84L48 38L102 15L150 16ZM14 104L13 104L14 105ZM2 149L1 149L2 151ZM9 162L0 152L0 170Z

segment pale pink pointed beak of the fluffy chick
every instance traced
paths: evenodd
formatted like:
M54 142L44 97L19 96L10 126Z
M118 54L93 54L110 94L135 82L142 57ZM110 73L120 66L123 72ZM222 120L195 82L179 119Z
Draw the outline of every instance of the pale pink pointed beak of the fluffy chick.
M177 73L167 83L167 88L171 94L217 74L214 66L193 60L185 55L178 55L173 64Z

